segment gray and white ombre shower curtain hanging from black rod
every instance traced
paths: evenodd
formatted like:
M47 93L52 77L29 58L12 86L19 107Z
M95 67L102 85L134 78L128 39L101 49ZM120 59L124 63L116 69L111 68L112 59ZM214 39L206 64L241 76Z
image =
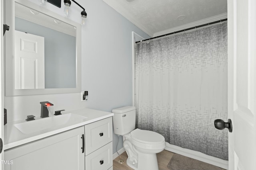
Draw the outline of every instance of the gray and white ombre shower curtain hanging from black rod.
M228 160L227 23L136 45L139 129Z

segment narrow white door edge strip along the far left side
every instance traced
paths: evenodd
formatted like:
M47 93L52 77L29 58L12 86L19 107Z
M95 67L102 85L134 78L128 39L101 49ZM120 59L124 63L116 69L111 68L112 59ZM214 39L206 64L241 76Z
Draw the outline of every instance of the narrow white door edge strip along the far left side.
M3 1L0 1L0 141L4 141L4 55L3 55ZM1 146L0 146L1 147ZM2 150L2 149L0 149ZM0 152L0 160L4 160L4 150ZM4 164L0 164L0 170Z

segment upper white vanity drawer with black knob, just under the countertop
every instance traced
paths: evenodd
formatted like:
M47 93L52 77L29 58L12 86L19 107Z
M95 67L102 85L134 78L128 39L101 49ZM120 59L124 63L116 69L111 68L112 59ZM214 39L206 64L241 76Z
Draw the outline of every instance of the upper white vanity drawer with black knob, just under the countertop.
M96 121L84 126L85 155L112 141L112 117Z

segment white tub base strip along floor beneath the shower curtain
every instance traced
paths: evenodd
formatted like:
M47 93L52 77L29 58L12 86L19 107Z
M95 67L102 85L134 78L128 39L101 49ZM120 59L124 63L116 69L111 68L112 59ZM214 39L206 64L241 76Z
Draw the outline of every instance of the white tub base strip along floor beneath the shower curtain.
M220 168L228 169L228 161L222 160L220 158L216 158L214 156L209 156L207 154L203 154L202 152L198 152L195 150L185 149L182 147L178 147L176 145L171 145L170 143L166 142L166 148L170 152L174 152L177 154L181 154L183 156L187 156L196 160L200 160L202 162L206 162L208 164L212 164L214 166L218 166Z

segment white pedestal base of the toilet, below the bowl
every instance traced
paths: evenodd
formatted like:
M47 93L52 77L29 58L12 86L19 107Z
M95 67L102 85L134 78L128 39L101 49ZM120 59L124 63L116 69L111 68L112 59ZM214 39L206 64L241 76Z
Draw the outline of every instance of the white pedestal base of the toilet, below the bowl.
M132 162L129 158L126 164L134 170L159 170L156 154L138 153L138 163Z

